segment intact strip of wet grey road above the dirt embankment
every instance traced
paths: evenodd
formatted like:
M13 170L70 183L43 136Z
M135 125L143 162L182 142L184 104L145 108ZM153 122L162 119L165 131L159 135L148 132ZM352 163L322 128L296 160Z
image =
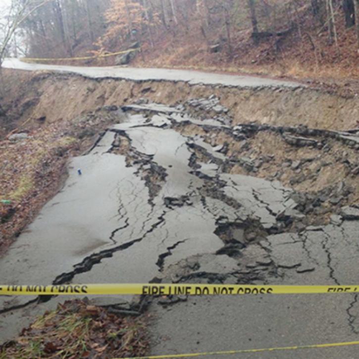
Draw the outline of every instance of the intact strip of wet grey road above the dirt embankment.
M239 76L216 74L200 71L172 70L161 68L135 68L135 67L88 67L88 66L64 66L46 65L39 63L22 62L16 58L5 58L2 63L5 68L19 70L50 70L60 72L72 72L90 78L118 78L131 81L171 81L187 82L190 85L222 85L233 87L304 87L304 85L292 81L281 81L256 76Z

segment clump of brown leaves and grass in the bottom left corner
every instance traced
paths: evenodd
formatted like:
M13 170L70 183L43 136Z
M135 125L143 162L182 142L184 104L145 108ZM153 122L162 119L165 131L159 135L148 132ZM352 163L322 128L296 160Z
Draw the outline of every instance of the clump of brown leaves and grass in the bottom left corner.
M45 313L19 338L0 347L7 358L126 358L148 351L141 317L124 317L74 300Z

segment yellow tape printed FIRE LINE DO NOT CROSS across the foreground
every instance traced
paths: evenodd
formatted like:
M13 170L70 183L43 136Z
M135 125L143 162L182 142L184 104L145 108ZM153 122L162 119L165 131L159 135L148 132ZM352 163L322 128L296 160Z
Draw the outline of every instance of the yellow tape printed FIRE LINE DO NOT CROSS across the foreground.
M358 293L359 285L61 284L0 285L0 295L242 295Z

